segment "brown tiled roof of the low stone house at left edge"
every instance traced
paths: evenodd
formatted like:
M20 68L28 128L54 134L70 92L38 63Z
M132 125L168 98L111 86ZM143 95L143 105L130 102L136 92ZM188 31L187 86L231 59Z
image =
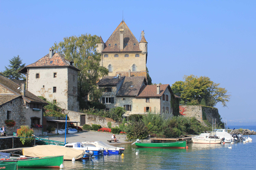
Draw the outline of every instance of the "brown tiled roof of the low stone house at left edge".
M7 88L7 90L13 92L14 95L18 95L20 96L21 93L20 93L20 89L21 87L14 83L12 80L9 80L8 78L0 75L0 84ZM20 89L18 89L18 87L20 87ZM1 95L1 98L3 97L4 95ZM10 96L9 94L7 96ZM26 90L25 92L25 96L22 96L22 98L24 100L26 100L28 103L40 103L40 104L48 104L46 103L43 99L40 99L39 97L37 97L36 95L34 95L33 93L30 93L29 91ZM8 100L10 98L6 98L6 100L3 100L4 103L7 103ZM10 101L10 100L9 100Z

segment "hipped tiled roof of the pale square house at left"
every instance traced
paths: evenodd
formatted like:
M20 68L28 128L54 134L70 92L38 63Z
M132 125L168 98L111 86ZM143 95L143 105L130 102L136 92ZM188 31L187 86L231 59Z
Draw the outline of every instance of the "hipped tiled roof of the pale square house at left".
M69 61L63 58L59 53L55 53L52 58L49 58L49 54L34 62L33 64L23 67L19 72L26 73L27 67L72 67L73 69L79 71L76 67L68 64ZM69 61L70 62L70 61Z

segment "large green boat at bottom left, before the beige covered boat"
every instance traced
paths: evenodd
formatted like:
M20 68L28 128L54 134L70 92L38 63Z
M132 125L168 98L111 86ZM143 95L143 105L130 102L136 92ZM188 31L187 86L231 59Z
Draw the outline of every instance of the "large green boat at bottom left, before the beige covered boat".
M13 158L13 157L12 157ZM17 163L18 167L27 168L59 168L63 163L63 155L54 157L19 157L19 159L2 160L6 164ZM9 170L9 169L8 169Z

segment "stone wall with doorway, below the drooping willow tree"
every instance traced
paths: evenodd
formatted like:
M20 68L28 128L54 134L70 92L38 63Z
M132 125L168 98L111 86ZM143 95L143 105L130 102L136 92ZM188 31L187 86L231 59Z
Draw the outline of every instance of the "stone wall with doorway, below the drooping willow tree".
M80 122L80 115L85 115L85 124L87 124L87 125L96 124L96 125L101 125L104 128L107 128L108 122L112 123L112 127L119 126L119 124L121 124L121 122L116 122L113 119L104 118L104 117L97 116L97 115L90 115L90 114L85 114L85 113L81 113L81 112L74 112L74 111L70 111L70 110L66 110L66 109L64 112L65 112L65 114L68 114L69 119L71 121L77 121L77 122ZM80 126L80 123L78 123L78 126Z

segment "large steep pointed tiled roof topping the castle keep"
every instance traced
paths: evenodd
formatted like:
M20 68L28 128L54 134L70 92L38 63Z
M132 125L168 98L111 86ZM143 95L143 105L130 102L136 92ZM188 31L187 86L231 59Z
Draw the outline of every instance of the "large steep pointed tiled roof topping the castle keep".
M119 52L120 29L124 29L124 50L123 51L141 51L139 42L132 34L126 23L122 21L115 29L112 35L105 42L105 49L102 52ZM110 44L110 46L109 46ZM116 44L116 45L115 45ZM127 44L127 45L126 45Z

